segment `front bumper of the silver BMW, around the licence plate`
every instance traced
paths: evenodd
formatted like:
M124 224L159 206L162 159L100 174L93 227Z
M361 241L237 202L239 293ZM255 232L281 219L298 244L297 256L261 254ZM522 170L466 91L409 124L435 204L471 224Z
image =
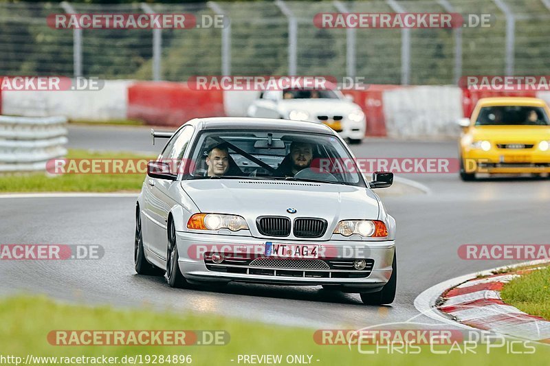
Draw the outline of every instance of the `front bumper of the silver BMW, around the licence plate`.
M390 279L395 251L394 240L369 242L330 240L314 242L311 240L271 240L188 232L177 232L176 236L179 269L190 282L252 282L283 285L329 284L342 286L344 290L347 289L350 292L354 288L368 292L369 290L382 288ZM336 258L353 260L362 258L367 260L366 262L372 263L372 266L366 268L366 271L369 273L355 270L354 268L344 271L333 267L326 269L292 268L288 266L277 268L272 266L250 266L248 264L238 266L241 268L239 270L241 273L212 270L212 268L216 268L212 264L209 264L207 268L204 259L205 255L203 254L207 248L208 250L216 248L224 251L223 247L225 247L225 249L230 248L230 251L233 251L237 247L263 247L266 241L286 242L289 244L319 244L322 247L330 248L327 250L325 258L321 259L322 261L329 262L331 259ZM261 258L263 258L263 255L261 255ZM292 275L289 275L289 273L292 273ZM361 273L364 277L342 278L341 276L346 275L346 273L354 273L354 275Z

